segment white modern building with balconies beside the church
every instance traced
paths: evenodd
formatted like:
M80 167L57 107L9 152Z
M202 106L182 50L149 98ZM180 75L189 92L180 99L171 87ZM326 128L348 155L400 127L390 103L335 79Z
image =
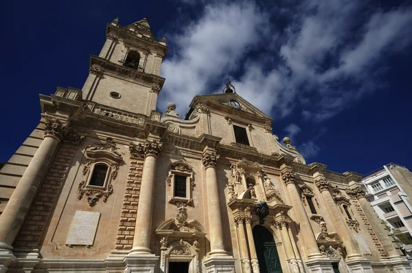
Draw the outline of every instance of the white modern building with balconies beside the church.
M412 252L412 174L404 166L389 163L366 175L363 184L367 198L387 226L407 234L410 243L404 250Z

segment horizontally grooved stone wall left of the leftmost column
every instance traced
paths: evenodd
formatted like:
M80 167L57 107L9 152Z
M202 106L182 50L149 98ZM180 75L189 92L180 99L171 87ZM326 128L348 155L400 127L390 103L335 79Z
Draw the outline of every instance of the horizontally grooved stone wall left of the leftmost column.
M44 124L38 124L36 129L21 144L16 153L10 157L10 160L0 170L0 214L7 205L8 199L12 196L14 188L20 181L27 166L40 146L44 135Z

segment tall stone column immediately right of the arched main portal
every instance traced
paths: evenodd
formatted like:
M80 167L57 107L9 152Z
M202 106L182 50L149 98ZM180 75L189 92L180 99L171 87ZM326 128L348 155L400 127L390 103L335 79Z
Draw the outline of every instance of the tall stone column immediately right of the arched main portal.
M323 255L319 252L317 241L314 238L314 233L312 226L310 226L310 221L304 204L302 204L301 197L299 195L299 190L297 190L297 185L295 184L295 173L290 169L284 169L281 173L282 180L286 184L288 193L290 196L290 201L292 202L292 210L295 214L296 219L299 219L301 238L303 240L303 246L308 254L308 259L318 259L322 258Z

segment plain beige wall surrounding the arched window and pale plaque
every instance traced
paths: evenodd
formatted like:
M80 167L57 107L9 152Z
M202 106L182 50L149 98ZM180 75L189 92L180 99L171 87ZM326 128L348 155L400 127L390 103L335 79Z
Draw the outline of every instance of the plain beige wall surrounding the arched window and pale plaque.
M128 174L131 166L130 158L123 157L117 177L111 182L113 194L108 196L106 202L100 199L95 206L90 206L87 202L87 196L78 199L78 184L84 180L84 175L82 174L82 168L86 160L84 149L89 145L100 142L102 140L87 138L74 154L69 167L69 173L67 173L67 178L64 184L62 184L60 196L58 196L57 201L54 203L56 208L52 210L53 213L49 219L49 225L45 229L44 241L39 245L41 254L45 259L61 259L62 257L66 259L67 257L71 257L71 259L105 259L111 250L115 250L116 247L118 249L120 244L124 243L126 245L125 241L117 241L119 240L117 238L122 235L126 236L126 234L123 234L122 228L120 228L124 226L121 224L122 218L129 216L128 214L126 215L124 210L129 210L130 214L130 209L134 209L124 207L126 186L128 186L126 182L129 178ZM128 154L128 146L117 144L117 147L124 155ZM58 162L59 159L56 158L56 160ZM53 164L56 164L56 160ZM49 172L52 172L52 169ZM65 245L76 210L100 212L100 221L95 240L93 245L89 247L85 245ZM130 226L134 226L133 221L130 221Z

